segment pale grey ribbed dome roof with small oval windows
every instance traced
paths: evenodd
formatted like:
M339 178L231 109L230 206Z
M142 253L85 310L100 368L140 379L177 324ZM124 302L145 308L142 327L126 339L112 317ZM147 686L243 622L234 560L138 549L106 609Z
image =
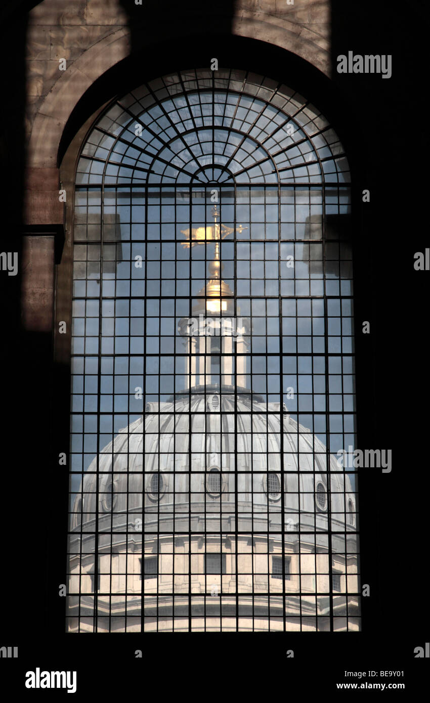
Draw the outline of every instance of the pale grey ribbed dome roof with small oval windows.
M93 522L97 512L99 529L110 520L117 529L126 527L139 515L146 522L154 512L155 523L157 515L173 523L174 512L188 512L190 502L192 512L206 512L209 498L214 501L211 512L222 501L222 511L234 514L237 491L237 510L245 514L252 505L254 511L270 514L271 529L282 529L283 453L285 519L300 523L300 529L327 530L328 507L336 529L353 529L345 524L345 509L356 511L348 475L330 455L327 506L327 450L285 406L281 410L280 404L225 387L221 392L199 390L148 403L145 415L119 430L100 451L99 473L94 458L84 476L83 523ZM208 498L209 470L219 471L219 495L209 491ZM169 529L167 524L163 529Z

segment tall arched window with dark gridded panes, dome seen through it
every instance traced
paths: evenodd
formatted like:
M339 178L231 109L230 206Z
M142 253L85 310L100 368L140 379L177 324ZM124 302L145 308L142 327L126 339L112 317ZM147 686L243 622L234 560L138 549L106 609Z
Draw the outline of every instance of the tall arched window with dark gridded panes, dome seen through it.
M86 496L86 510L82 525L71 523L71 549L79 537L82 548L70 555L70 577L80 573L79 553L92 559L91 539L105 545L115 534L120 553L131 532L143 558L159 553L158 534L163 544L171 535L166 550L183 556L180 576L164 580L160 559L163 586L139 581L154 596L164 588L157 612L166 631L175 588L197 593L190 554L193 578L198 572L201 593L210 593L224 572L209 569L214 583L205 581L204 555L221 555L233 571L237 561L240 571L243 560L229 551L245 554L255 533L261 553L266 544L276 559L291 555L291 576L275 581L266 558L254 594L272 596L269 579L280 589L268 629L287 631L301 612L285 614L282 589L307 593L306 579L315 581L294 575L302 546L291 526L315 531L318 553L342 573L348 533L348 563L356 559L344 510L356 486L336 459L355 432L350 202L333 127L271 78L175 72L98 117L74 200L70 486ZM97 515L104 472L117 477L112 515ZM222 511L205 496L221 490ZM329 572L318 576L324 593ZM245 567L238 575L252 579ZM108 582L111 595L122 593L122 582ZM71 583L79 595L79 577ZM91 629L97 599L81 601L79 616L70 606L70 630ZM318 629L360 628L353 569L348 599L348 617L327 614ZM255 607L264 619L263 600ZM112 615L100 628L126 631ZM249 619L245 629L259 627Z

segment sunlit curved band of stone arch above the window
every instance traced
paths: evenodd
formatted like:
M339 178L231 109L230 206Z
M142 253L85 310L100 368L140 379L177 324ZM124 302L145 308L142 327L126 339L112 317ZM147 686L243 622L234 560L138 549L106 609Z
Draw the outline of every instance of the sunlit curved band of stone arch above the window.
M45 4L39 6L40 10ZM256 3L252 0L237 3L232 22L233 36L278 46L330 76L330 41L325 36L329 13L327 1L302 2L300 11L294 6L282 6L282 9L275 6L273 11L273 3L268 2L258 5L256 10ZM117 11L119 24L124 19L119 7ZM173 33L174 29L170 27L169 32ZM30 27L30 39L32 30ZM30 169L57 167L58 145L72 110L96 79L129 56L130 36L129 27L117 27L84 49L66 71L59 73L32 123L27 160Z

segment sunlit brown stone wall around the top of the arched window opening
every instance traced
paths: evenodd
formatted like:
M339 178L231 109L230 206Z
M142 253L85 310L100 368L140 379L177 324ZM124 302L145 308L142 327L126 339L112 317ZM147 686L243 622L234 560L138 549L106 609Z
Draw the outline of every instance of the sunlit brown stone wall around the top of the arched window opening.
M134 6L131 0L129 4L133 6L133 18L138 11L147 11L144 6ZM65 124L91 84L131 51L134 20L124 10L125 2L72 0L66 5L58 0L44 0L29 15L26 224L63 222L64 206L57 195L57 161ZM145 27L144 41L173 35L181 22L188 31L190 27L198 31L199 25L212 25L211 13L218 18L230 13L233 34L283 47L326 75L330 73L327 0L295 0L294 5L286 0L237 0L233 10L230 2L216 3L214 8L204 3L197 6L197 18L196 8L181 6L176 8L177 17L169 11L159 15L153 32L150 26ZM160 18L165 26L160 25ZM60 70L62 59L65 70Z

